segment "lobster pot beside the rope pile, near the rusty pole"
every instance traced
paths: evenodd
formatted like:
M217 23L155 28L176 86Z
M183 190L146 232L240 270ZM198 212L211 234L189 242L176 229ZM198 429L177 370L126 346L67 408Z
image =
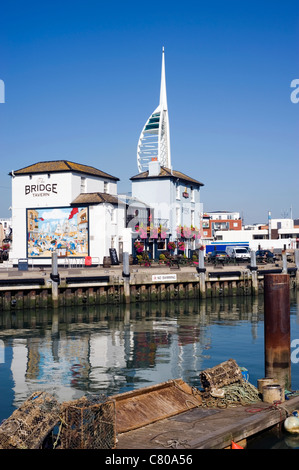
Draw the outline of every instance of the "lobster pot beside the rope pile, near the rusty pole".
M203 388L221 388L243 380L242 372L234 359L222 362L211 369L206 369L200 373L200 380Z

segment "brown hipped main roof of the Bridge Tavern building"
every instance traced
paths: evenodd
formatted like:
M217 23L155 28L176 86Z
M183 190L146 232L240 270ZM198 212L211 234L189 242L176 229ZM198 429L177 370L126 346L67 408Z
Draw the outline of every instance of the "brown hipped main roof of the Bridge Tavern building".
M14 175L28 175L40 173L61 173L61 172L75 172L91 176L99 176L101 178L109 178L119 181L119 178L109 175L104 171L98 170L93 166L83 165L82 163L74 163L69 160L52 160L45 162L34 163L33 165L26 166L20 170L15 170L9 173Z

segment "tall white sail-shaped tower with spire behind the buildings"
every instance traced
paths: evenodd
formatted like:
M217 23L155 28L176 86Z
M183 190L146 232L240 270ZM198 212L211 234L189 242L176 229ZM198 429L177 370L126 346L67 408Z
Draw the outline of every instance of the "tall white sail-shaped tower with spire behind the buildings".
M139 137L138 171L141 173L148 170L148 164L153 158L157 159L161 166L171 168L164 47L162 48L160 103L146 121Z

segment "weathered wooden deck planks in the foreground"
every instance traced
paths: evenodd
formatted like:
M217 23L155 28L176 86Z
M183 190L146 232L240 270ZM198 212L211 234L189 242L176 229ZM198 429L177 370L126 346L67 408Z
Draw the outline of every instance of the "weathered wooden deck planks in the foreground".
M299 397L277 407L198 407L117 436L117 449L223 449L278 424L299 407ZM263 411L258 411L263 409Z

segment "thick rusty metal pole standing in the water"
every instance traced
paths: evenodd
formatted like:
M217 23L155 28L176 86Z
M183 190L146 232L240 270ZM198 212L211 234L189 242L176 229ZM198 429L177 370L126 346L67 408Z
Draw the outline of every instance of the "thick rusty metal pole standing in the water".
M290 279L264 276L265 377L291 390Z

